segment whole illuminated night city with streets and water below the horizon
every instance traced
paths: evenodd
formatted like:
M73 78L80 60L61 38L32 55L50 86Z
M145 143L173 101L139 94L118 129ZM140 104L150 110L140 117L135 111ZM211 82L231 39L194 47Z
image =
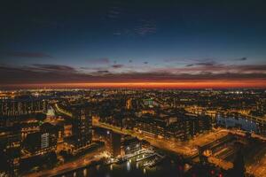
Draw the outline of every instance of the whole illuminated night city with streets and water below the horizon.
M265 89L0 92L2 176L266 176Z

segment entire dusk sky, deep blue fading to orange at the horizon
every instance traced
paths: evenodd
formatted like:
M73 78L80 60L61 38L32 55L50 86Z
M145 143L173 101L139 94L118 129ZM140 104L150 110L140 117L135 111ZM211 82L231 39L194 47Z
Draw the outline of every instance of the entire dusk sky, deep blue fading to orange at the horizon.
M0 88L265 88L264 2L1 1Z

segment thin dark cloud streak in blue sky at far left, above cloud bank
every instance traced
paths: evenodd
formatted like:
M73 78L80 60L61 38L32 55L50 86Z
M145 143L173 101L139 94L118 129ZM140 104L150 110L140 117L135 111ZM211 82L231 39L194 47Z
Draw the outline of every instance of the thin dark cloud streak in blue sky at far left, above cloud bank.
M16 58L52 58L51 55L42 52L11 51L5 52L5 56Z

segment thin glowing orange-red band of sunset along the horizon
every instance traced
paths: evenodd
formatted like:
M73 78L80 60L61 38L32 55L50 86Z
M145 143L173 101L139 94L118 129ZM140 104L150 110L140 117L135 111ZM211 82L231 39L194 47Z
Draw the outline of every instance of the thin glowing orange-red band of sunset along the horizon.
M240 89L240 88L266 88L264 80L252 81L146 81L146 82L82 82L82 83L40 83L40 84L12 84L7 88L20 89Z

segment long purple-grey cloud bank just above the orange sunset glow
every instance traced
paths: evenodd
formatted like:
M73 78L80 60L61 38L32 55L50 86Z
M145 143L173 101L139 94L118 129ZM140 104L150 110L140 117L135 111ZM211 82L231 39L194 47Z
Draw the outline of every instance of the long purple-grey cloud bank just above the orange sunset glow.
M112 65L121 68L123 65ZM97 70L98 69L98 70ZM96 68L82 73L67 65L0 65L1 84L30 83L78 83L78 82L189 82L189 81L259 81L266 85L266 65L207 65L191 67L156 67L137 72L134 70L115 73L112 70Z

